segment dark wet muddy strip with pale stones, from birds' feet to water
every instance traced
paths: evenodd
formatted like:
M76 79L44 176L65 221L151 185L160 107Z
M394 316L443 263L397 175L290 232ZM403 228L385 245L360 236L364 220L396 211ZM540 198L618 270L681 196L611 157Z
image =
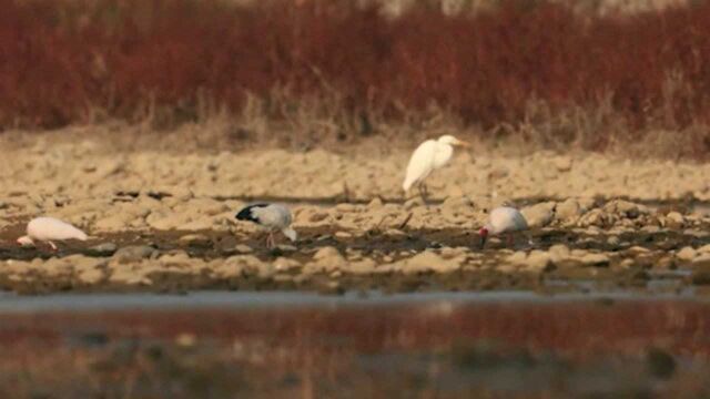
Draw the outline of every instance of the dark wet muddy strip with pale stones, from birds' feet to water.
M21 229L8 228L0 239ZM0 289L26 295L195 289L552 295L611 289L680 294L692 288L704 295L710 284L704 252L696 254L698 259L683 257L687 248L706 247L710 237L673 229L588 234L546 227L530 232L532 244L518 241L515 250L500 242L481 250L467 228L343 235L312 227L300 233L295 246L271 250L258 233L213 231L106 233L63 246L58 254L0 247L0 260L9 266L0 270ZM530 259L530 254L542 260ZM121 273L123 280L113 278Z

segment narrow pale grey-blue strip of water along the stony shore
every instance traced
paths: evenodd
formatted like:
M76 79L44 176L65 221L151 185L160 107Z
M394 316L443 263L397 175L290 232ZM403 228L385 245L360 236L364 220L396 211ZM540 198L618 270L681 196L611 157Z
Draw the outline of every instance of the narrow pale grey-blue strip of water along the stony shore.
M589 290L538 294L526 290L490 291L427 291L385 294L378 290L347 291L343 295L320 295L307 291L190 291L180 295L152 293L94 293L49 294L23 296L0 291L0 313L33 311L97 311L97 310L197 310L220 309L331 309L369 308L396 306L475 306L476 304L569 304L598 299L656 301L668 299L692 299L709 303L708 297L696 297L692 289L678 293L633 291L623 289L594 290L594 282L550 282L550 286L575 285Z

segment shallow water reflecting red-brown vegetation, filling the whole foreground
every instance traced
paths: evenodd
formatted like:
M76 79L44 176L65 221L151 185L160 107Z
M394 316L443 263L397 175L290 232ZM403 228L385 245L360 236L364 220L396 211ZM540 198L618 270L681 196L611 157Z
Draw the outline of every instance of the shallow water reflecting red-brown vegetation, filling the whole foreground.
M0 395L701 397L708 325L629 290L0 293Z

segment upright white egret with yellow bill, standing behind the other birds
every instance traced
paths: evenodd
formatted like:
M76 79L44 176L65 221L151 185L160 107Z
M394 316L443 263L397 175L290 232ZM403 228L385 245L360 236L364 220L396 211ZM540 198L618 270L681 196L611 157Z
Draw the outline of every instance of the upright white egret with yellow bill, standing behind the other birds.
M465 141L458 140L449 134L443 135L438 140L427 140L419 144L419 146L414 150L414 153L412 153L402 188L407 193L414 184L417 184L419 194L424 197L426 194L424 180L434 172L434 170L443 167L452 160L454 146L468 145Z

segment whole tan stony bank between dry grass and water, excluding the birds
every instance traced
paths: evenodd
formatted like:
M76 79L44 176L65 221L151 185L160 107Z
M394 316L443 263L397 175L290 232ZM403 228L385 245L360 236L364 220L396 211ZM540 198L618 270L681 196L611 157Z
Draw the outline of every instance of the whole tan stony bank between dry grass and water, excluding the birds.
M0 142L0 288L663 289L710 284L710 165L598 154L459 152L400 192L408 150L115 151L84 135ZM235 212L281 201L300 239L274 250ZM513 248L476 234L523 208ZM59 253L18 248L31 217L84 228ZM659 288L660 287L660 288Z

